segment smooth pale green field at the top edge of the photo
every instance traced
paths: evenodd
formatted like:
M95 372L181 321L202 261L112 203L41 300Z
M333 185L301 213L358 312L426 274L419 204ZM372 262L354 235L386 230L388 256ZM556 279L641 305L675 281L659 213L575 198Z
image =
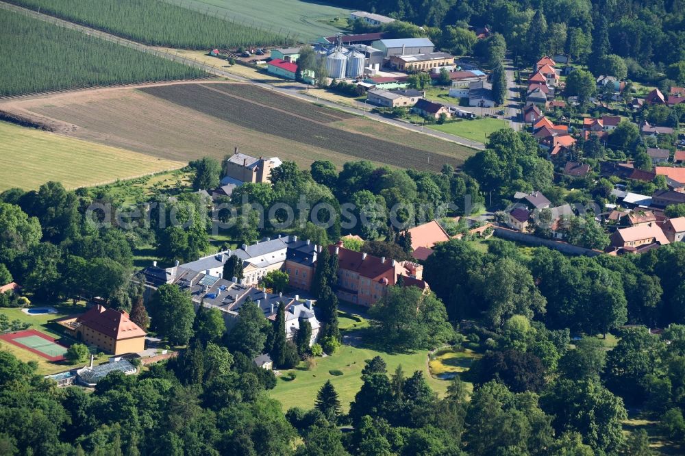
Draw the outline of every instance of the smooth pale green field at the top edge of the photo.
M279 34L295 34L300 42L334 36L352 10L303 0L169 0L199 11L227 14L236 23L246 23ZM338 18L338 21L334 19Z

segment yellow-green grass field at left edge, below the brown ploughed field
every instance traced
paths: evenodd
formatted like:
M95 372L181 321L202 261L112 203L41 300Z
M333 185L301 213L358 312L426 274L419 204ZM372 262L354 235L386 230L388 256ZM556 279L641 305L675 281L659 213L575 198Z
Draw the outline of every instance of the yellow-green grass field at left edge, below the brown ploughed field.
M0 144L0 191L32 190L50 180L66 188L93 186L185 165L5 122L0 122Z

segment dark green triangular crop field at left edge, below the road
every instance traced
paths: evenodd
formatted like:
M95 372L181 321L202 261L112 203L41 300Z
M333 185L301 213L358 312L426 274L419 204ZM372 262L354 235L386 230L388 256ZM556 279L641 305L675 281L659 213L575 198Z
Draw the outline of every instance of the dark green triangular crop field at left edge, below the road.
M0 10L0 97L45 90L203 77L203 71ZM11 69L11 71L10 71Z

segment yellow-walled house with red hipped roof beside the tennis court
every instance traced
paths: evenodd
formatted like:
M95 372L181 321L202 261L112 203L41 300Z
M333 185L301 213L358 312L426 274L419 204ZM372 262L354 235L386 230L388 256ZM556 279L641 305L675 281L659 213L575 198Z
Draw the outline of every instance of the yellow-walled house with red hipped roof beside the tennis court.
M95 345L110 355L136 353L145 350L145 335L124 310L108 309L103 305L90 307L85 314L54 320L72 338Z

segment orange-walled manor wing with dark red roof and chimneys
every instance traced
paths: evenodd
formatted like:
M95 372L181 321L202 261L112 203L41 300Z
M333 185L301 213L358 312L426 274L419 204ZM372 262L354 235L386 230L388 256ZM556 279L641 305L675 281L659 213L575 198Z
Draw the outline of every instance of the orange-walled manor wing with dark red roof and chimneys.
M329 246L338 257L338 298L349 303L371 307L385 296L386 288L402 283L427 292L423 281L423 266L413 262L375 257L368 253L345 249L338 242Z

